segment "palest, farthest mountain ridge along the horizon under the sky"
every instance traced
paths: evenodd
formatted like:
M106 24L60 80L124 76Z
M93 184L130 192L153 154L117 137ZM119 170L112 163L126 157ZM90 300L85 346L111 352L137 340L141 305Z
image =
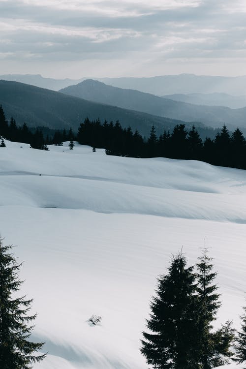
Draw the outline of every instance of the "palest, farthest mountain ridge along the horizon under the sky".
M154 77L122 77L99 78L83 77L78 79L44 78L40 74L4 74L0 79L27 83L54 91L61 90L70 85L78 84L92 78L107 85L123 89L138 90L154 95L163 96L170 94L189 93L227 93L230 95L246 96L246 76L199 76L195 74L162 75Z

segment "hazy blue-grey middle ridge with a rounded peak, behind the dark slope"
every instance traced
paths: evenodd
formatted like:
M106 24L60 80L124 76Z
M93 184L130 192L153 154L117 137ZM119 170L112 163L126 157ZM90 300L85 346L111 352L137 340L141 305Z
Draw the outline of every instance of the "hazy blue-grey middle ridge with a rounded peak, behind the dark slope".
M230 129L235 129L237 126L246 129L246 108L232 110L222 106L199 106L136 90L108 86L91 79L66 87L61 92L90 101L185 122L202 122L212 127L222 126L225 123Z

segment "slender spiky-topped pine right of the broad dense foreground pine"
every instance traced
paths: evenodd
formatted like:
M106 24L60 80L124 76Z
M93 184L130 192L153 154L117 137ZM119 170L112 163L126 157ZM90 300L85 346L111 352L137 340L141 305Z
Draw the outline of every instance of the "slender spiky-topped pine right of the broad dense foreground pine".
M218 287L213 284L217 273L212 272L212 258L204 246L203 254L199 257L197 266L198 293L198 341L197 362L202 369L211 369L228 363L232 356L230 344L234 337L231 322L226 322L220 329L213 332L212 322L216 319L216 312L220 307Z

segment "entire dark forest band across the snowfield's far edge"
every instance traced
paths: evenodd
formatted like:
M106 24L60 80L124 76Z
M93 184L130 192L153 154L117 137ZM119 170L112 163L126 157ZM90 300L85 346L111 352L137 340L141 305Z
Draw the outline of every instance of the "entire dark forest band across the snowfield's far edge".
M145 139L138 130L133 133L131 127L122 128L119 121L101 123L99 119L90 121L86 118L75 134L71 128L29 128L26 123L17 126L13 118L8 123L0 106L0 136L30 144L33 149L48 150L47 145L78 141L81 145L105 149L107 155L200 160L218 166L246 169L246 139L239 128L230 134L226 125L214 140L207 137L203 141L195 126L188 131L185 124L177 124L171 133L164 130L159 137L152 126L149 138Z

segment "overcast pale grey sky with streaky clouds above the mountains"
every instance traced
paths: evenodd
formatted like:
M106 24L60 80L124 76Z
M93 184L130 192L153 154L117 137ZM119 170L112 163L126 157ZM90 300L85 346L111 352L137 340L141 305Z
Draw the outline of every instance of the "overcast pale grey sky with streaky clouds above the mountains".
M246 0L0 0L0 74L246 74Z

